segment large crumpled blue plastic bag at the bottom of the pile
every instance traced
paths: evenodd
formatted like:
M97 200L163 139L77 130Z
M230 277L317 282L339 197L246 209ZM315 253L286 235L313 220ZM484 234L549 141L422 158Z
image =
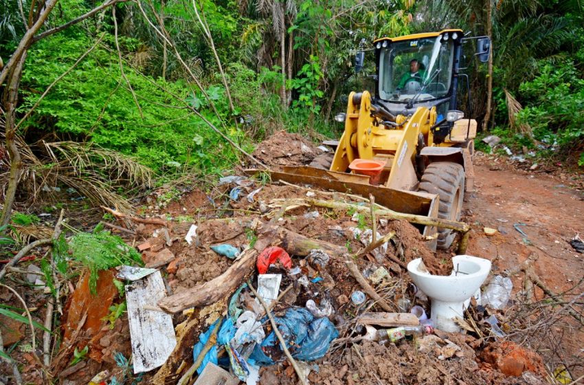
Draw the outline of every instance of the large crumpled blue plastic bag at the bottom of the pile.
M262 322L266 320L263 318ZM335 325L328 318L314 318L303 307L291 307L283 317L274 317L274 320L292 357L297 360L313 361L324 357L330 341L339 336ZM261 344L254 347L250 358L260 366L273 365L274 360L265 352L273 351L276 344L279 345L279 341L272 331Z

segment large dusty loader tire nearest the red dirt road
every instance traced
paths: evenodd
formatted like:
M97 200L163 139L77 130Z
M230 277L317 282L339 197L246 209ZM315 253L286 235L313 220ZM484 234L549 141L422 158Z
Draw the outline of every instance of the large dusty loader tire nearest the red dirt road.
M464 199L464 168L453 162L434 162L429 164L422 175L418 191L438 194L438 218L460 220L462 200ZM438 228L436 248L447 250L456 232L445 228Z

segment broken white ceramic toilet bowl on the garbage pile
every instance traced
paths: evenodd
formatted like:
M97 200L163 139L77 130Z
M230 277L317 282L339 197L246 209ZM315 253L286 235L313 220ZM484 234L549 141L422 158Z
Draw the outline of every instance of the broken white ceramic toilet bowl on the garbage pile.
M491 272L491 261L470 255L457 255L452 259L454 270L449 276L434 276L418 270L422 259L407 264L407 272L418 289L431 303L434 327L443 331L460 331L453 318L463 318L471 297L480 294L480 285Z

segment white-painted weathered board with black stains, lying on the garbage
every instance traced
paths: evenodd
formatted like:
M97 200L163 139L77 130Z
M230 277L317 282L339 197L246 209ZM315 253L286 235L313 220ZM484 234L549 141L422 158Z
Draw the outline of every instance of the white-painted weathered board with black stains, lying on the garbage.
M134 373L151 371L161 366L177 345L172 316L152 310L164 297L166 287L160 272L126 286Z

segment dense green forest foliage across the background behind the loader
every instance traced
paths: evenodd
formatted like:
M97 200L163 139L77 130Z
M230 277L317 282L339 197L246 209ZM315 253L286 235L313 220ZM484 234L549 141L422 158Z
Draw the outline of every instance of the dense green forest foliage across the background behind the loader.
M47 28L98 3L59 4ZM2 0L1 6L0 56L8 58L25 30L15 3ZM209 123L247 150L276 129L336 136L340 127L330 116L344 109L343 96L372 86L370 72L356 76L352 69L358 47L370 47L377 36L441 28L484 34L487 6L495 47L489 126L510 144L517 135L526 143L525 133L510 124L510 95L524 107L511 117L517 112L517 124L532 130L529 146L557 143L554 149L581 153L584 52L578 48L584 32L582 10L572 0L201 0L196 8L177 0L122 3L115 20L111 10L98 12L32 45L19 113L34 111L19 133L29 143L91 142L163 175L220 173L241 159ZM367 60L371 69L372 57ZM472 71L471 113L481 120L486 68Z

